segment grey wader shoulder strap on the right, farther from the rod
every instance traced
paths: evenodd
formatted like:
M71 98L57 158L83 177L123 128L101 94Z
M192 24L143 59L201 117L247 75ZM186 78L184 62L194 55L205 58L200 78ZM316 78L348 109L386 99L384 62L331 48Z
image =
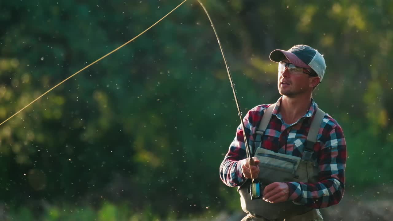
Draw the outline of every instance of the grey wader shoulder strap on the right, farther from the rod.
M318 132L324 117L325 112L318 108L314 119L311 122L309 134L307 135L307 142L304 148L303 157L301 158L302 160L311 160L312 153L314 153L314 144L317 141Z

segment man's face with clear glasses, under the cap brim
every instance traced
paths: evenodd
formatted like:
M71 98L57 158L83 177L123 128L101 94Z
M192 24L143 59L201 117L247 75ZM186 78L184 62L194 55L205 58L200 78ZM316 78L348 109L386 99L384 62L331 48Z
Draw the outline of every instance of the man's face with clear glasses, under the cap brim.
M288 59L282 60L285 63L289 63ZM310 88L310 77L308 74L303 73L303 69L299 72L293 72L285 67L284 71L278 71L277 87L281 95L288 97L295 97L299 94L304 94L312 90Z

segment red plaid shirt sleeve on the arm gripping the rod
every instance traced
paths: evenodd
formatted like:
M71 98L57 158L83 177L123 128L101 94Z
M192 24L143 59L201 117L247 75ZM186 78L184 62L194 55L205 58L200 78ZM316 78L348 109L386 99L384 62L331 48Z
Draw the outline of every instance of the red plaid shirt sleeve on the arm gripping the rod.
M250 132L254 127L253 123L257 123L259 122L258 120L261 119L260 115L260 111L254 108L248 111L243 118L248 145L252 145L253 137L252 133L250 135ZM224 184L227 186L240 186L242 182L246 180L241 172L242 163L239 162L239 160L246 157L246 145L244 144L243 129L240 124L237 128L236 136L229 147L228 153L225 155L220 166L220 179Z

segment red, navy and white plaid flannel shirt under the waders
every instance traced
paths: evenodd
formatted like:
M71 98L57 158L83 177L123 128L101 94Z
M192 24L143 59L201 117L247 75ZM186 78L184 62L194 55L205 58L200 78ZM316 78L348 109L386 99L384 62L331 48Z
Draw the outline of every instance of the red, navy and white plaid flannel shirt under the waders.
M272 112L272 119L262 138L262 147L302 157L310 124L318 105L311 99L308 112L297 122L288 125L278 112L281 100L282 97ZM244 117L245 133L251 147L254 147L255 131L269 106L254 107ZM340 125L329 114L325 114L323 118L312 157L318 163L318 182L286 182L289 186L289 200L311 208L325 208L339 203L345 190L347 149ZM242 128L239 125L235 139L220 166L220 178L226 185L240 186L245 181L241 173L242 165L238 163L244 158L246 149Z

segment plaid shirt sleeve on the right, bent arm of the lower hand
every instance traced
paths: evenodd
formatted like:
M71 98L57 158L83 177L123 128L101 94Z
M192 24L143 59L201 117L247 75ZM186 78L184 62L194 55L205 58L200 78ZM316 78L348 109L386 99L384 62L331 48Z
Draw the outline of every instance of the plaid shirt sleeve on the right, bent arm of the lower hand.
M323 132L322 132L323 133ZM325 208L338 204L345 190L345 162L347 148L342 128L337 124L327 132L327 141L321 146L319 182L286 182L289 199L311 208Z

